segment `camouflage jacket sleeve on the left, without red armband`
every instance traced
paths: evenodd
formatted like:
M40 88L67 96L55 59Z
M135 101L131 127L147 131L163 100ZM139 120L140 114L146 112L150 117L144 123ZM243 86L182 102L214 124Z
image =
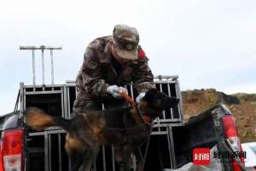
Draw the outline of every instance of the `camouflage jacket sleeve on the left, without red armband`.
M97 53L90 46L84 53L84 62L81 68L84 90L91 95L107 94L108 83L102 79L101 66L97 58Z

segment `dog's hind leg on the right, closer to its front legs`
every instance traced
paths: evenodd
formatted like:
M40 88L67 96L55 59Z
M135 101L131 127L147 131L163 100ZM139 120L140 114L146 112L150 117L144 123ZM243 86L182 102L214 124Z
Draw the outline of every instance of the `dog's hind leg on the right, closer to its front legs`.
M100 145L94 145L84 151L83 163L79 171L90 171L94 162L96 162L97 154L100 150Z

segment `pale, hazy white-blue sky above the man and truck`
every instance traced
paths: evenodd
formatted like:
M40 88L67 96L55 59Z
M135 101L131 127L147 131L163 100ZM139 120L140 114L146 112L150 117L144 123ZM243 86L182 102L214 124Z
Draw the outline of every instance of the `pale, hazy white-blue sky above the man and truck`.
M55 83L74 80L84 49L116 24L137 28L154 75L177 75L182 90L256 93L256 1L1 1L0 115L14 110L20 82L32 84L32 53L20 45L61 46ZM49 52L45 54L46 83ZM42 83L36 52L36 83Z

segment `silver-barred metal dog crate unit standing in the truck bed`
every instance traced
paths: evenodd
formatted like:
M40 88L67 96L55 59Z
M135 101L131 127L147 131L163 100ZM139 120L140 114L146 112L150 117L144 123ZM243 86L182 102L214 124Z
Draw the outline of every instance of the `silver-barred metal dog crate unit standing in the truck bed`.
M155 88L181 100L177 77L156 77ZM133 99L137 91L132 84L127 85ZM75 84L25 85L20 83L20 116L29 106L36 106L50 115L71 118L75 100ZM145 171L160 171L175 168L175 152L172 142L172 127L183 125L182 102L175 108L163 111L163 116L154 120L154 128L148 145ZM26 116L24 116L26 122ZM70 162L64 150L65 131L58 127L47 128L43 132L28 130L26 136L26 171L68 171ZM145 151L145 146L142 147ZM157 155L155 155L157 154ZM113 147L102 146L94 171L118 171L114 162Z

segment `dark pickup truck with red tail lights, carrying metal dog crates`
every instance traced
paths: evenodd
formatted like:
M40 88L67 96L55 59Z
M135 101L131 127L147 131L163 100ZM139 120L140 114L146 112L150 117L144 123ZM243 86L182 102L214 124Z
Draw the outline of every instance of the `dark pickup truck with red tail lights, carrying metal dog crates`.
M176 108L163 111L154 120L154 128L148 144L142 146L146 159L145 171L175 170L193 162L195 148L218 146L218 152L241 152L236 122L230 110L223 104L212 106L188 123L183 121L183 101L177 76L155 77L155 87L176 96L180 103ZM137 92L127 85L131 97ZM15 111L0 118L1 148L0 171L68 171L70 162L64 150L65 131L51 127L35 132L26 127L23 111L36 106L53 116L72 117L75 100L75 84L25 85L20 83L20 91ZM229 143L227 143L229 142ZM228 145L229 144L229 145ZM239 164L229 157L220 155L222 170L240 171ZM93 167L94 171L118 170L113 157L112 146L102 146Z

